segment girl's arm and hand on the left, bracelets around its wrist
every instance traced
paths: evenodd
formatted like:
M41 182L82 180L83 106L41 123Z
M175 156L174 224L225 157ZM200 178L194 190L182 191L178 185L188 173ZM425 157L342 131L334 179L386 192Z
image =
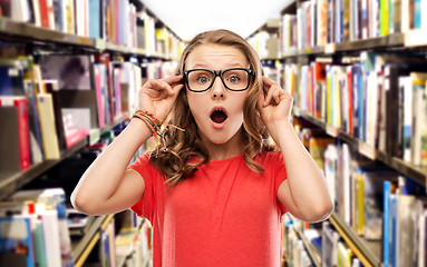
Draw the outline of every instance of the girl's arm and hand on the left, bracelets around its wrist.
M142 88L139 106L164 120L183 88L181 79L178 76L147 81ZM105 215L127 209L140 200L144 179L136 170L126 168L151 136L143 120L133 119L85 171L71 194L72 206L85 214Z

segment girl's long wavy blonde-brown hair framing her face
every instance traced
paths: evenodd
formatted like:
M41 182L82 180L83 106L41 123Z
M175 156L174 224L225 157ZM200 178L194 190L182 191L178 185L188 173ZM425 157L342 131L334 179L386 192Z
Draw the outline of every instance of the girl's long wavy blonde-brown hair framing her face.
M253 158L263 151L272 151L274 148L266 145L269 134L256 109L258 93L262 88L263 75L261 61L253 48L239 34L229 30L213 30L197 34L185 48L179 59L176 75L183 75L188 55L198 46L215 43L232 46L240 49L248 58L250 68L254 71L248 89L248 97L243 106L243 126L241 128L244 144L244 160L246 166L256 172L263 172ZM197 131L197 125L190 111L186 88L179 91L175 105L169 115L172 125L185 129L179 131L173 127L164 134L165 142L161 142L151 154L149 160L169 182L169 188L191 177L201 165L210 160L210 155ZM190 160L196 157L198 160Z

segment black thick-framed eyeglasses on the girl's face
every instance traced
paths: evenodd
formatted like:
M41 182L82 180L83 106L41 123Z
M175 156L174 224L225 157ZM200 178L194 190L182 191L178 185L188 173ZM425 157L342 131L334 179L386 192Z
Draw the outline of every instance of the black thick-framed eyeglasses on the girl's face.
M229 90L244 91L251 83L253 70L243 68L226 70L193 69L184 71L184 82L187 85L188 90L204 92L213 86L217 76Z

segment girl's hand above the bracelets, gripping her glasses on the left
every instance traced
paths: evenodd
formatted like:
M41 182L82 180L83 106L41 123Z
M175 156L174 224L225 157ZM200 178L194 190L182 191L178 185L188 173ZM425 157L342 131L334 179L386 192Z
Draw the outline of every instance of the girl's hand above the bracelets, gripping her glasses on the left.
M148 80L140 88L138 108L165 120L184 87L182 79L183 76L174 76L159 80Z

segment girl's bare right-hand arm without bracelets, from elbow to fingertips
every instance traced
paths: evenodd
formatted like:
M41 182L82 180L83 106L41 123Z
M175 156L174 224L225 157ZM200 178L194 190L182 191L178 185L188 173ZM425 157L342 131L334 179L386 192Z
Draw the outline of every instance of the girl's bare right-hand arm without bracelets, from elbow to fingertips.
M324 220L332 212L333 204L321 170L289 120L292 96L265 77L263 83L266 96L260 92L261 118L282 152L288 175L279 187L278 198L301 220Z

